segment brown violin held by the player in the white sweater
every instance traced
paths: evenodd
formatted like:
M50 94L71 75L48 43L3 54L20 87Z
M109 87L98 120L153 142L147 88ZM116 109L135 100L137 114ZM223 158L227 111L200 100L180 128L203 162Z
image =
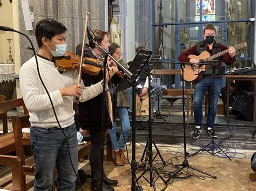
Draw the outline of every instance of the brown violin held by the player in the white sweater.
M98 75L103 68L102 63L97 59L85 57L83 60L82 70L86 74ZM80 56L67 51L64 56L55 57L54 62L56 68L62 71L79 69Z

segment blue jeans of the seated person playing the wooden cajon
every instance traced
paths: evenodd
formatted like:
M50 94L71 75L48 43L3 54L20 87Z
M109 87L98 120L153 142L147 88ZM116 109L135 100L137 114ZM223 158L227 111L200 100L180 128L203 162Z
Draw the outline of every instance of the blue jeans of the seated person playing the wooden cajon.
M144 84L145 84L145 82L140 82L140 85L142 87L144 87ZM156 93L157 91L162 89L162 87L159 86L156 82L151 82L151 87L152 87L151 88L151 94ZM127 95L128 95L128 98L129 98L129 103L130 103L129 111L132 112L132 87L127 88L126 90L127 90ZM157 111L157 110L160 111L161 110L160 101L161 101L161 98L162 98L162 93L163 93L163 91L160 91L159 94L154 94L154 111ZM159 99L159 102L158 102L158 99ZM159 103L159 108L158 108L158 103Z

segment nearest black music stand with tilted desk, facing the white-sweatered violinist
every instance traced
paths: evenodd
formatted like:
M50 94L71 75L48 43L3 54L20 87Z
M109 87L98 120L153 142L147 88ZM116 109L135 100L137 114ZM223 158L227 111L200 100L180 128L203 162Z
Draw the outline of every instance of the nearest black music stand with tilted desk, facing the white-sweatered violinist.
M134 74L134 79L129 79L127 75L124 75L123 79L120 81L119 86L116 88L116 91L121 91L132 87L132 161L131 161L131 170L132 170L132 186L131 190L143 190L142 186L136 186L136 169L138 167L138 162L136 161L136 92L135 88L137 86L137 80L142 76L145 69L147 68L147 62L150 59L152 51L141 50L137 53L133 59L129 70Z

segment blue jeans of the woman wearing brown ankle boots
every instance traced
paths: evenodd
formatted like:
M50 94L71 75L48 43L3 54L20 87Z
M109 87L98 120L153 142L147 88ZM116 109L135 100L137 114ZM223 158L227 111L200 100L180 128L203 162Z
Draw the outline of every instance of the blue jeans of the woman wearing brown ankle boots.
M119 142L117 144L117 123L116 121L113 122L113 128L109 129L109 137L112 143L112 149L114 151L118 151L118 149L124 149L125 142L130 134L130 119L128 114L128 109L124 107L118 107L118 116L120 118L120 121L122 123L122 132L119 137Z

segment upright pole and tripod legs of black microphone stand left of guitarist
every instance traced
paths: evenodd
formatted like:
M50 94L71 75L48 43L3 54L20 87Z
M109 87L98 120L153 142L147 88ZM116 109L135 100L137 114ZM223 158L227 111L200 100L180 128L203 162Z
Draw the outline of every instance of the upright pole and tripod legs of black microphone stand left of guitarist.
M181 166L181 168L179 168L167 181L166 181L166 185L170 183L171 179L172 178L175 178L176 175L181 171L183 170L183 168L192 168L193 170L197 171L197 172L200 172L200 173L203 173L205 175L208 175L214 179L217 179L216 176L214 175L211 175L209 173L206 173L204 171L201 171L200 169L197 169L197 168L194 168L192 166L190 166L188 164L188 161L187 161L187 157L188 157L188 153L186 151L186 120L185 120L185 97L184 97L184 65L182 65L181 67L181 76L182 76L182 103L183 103L183 137L184 137L184 161L183 161L183 164L181 165L175 165L176 167L178 166Z

